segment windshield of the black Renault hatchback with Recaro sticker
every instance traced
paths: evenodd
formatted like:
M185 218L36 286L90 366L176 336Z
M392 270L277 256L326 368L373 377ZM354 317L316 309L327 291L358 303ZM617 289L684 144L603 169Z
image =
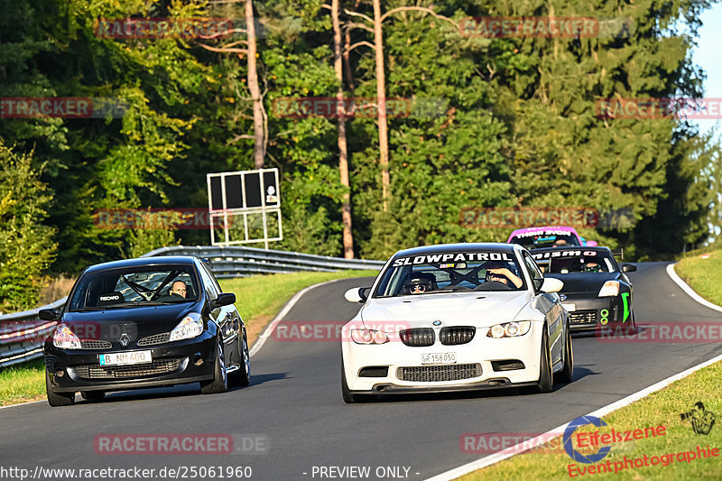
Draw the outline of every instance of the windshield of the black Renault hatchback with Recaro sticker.
M190 265L131 267L86 273L73 291L69 310L145 307L198 299Z

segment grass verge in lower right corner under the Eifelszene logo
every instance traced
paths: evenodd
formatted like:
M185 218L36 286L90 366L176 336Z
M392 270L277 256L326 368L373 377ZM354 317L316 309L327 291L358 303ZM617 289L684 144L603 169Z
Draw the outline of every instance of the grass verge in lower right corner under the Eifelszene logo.
M572 436L575 449L589 454L597 452L597 448L610 446L611 450L605 458L596 464L577 463L560 448L560 439L551 444L542 445L539 449L504 459L495 465L479 469L458 479L462 481L476 480L512 480L512 479L614 479L625 480L667 480L667 479L719 479L722 473L722 453L717 457L696 458L688 462L678 459L677 453L695 451L697 449L722 449L722 426L716 422L707 435L696 434L689 420L682 421L680 413L690 412L696 402L703 402L707 412L713 412L722 419L722 398L719 396L719 385L722 383L722 363L709 365L696 373L680 379L656 393L634 402L622 409L612 412L603 418L607 426L596 428L587 425L579 428ZM591 433L598 430L600 435L617 433L627 430L645 430L648 427L664 426L663 435L630 440L626 442L599 444L588 450L579 448L577 433ZM582 438L582 442L585 439ZM673 460L670 455L674 454ZM630 467L626 459L644 458L646 455L649 466ZM477 455L478 456L478 455ZM653 466L654 458L659 464ZM691 455L688 458L692 458ZM471 461L472 458L469 458ZM666 460L666 462L665 462ZM611 467L610 472L595 473L589 467ZM615 464L615 463L619 464ZM626 463L626 464L625 464ZM664 466L667 464L667 466ZM620 467L615 473L615 468ZM624 468L623 468L624 467ZM586 468L586 474L581 469ZM574 475L574 476L572 476Z

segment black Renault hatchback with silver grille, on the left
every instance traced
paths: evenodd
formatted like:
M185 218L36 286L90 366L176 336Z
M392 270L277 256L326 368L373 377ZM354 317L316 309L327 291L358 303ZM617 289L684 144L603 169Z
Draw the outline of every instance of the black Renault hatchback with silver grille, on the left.
M223 393L250 383L245 324L236 295L221 291L195 257L128 259L88 267L45 340L51 406L108 391L200 383Z

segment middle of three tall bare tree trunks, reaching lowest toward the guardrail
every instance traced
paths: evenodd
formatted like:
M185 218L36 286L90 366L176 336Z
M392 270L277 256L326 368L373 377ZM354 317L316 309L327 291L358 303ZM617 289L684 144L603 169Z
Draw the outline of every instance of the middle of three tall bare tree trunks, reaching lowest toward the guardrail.
M347 188L341 203L341 218L344 225L344 257L354 258L354 237L351 233L351 182L348 179L348 151L346 142L346 106L344 105L343 66L341 55L341 24L338 21L338 0L331 2L331 18L333 20L333 68L336 70L338 90L336 91L336 113L338 115L338 171L341 184Z

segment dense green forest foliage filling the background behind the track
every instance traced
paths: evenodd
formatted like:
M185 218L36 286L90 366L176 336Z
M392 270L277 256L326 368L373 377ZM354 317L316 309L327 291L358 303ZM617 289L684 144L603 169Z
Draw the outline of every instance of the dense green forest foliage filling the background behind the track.
M582 234L640 259L706 242L719 225L719 146L683 120L604 119L596 106L611 97L701 97L704 72L690 49L709 3L382 1L382 12L421 6L433 14L398 10L383 23L386 97L413 106L412 115L388 118L386 211L376 120L347 121L356 255L504 241L508 229L459 222L462 209L482 207L626 208L633 227ZM345 93L373 99L372 0L340 4L356 45ZM275 108L282 97L335 96L330 5L254 2L265 166L282 171L284 239L273 247L339 255L347 189L337 121ZM203 208L206 173L253 168L247 63L242 53L212 50L243 37L114 39L96 28L98 19L131 16L244 19L245 1L0 0L0 12L3 97L113 97L125 105L116 118L0 118L0 303L32 303L48 269L78 273L160 245L208 244L207 230L105 229L93 214ZM522 15L631 22L579 38L481 38L458 28L468 17Z

